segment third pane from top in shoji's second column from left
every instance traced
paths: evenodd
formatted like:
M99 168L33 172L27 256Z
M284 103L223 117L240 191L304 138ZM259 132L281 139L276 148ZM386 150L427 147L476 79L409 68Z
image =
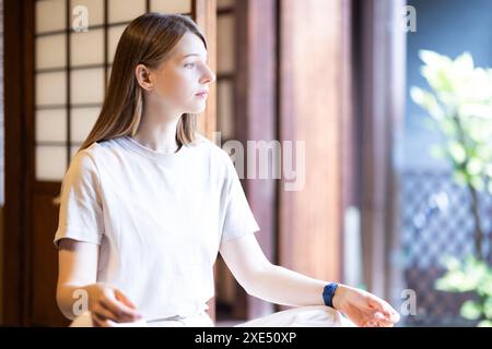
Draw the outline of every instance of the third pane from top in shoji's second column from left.
M70 99L72 104L103 103L103 68L73 70L70 76Z

